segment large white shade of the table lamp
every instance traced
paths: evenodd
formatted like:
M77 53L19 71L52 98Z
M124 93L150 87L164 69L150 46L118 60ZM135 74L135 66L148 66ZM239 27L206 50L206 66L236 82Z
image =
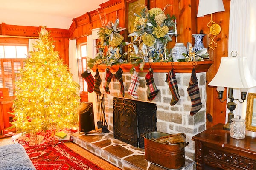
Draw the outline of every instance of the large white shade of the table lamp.
M244 57L221 57L217 74L209 82L211 86L248 89L256 86Z

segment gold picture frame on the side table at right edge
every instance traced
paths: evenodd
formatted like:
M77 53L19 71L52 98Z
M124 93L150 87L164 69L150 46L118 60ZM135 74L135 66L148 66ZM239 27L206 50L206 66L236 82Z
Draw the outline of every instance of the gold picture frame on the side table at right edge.
M246 130L256 132L256 93L248 93L245 127Z

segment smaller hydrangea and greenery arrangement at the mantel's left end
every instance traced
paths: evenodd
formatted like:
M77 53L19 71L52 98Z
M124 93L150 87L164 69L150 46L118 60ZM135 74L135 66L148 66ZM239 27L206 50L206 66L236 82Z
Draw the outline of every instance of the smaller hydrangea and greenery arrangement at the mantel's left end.
M128 45L127 42L123 42L124 37L120 34L120 31L126 28L118 27L119 19L116 19L115 23L108 22L106 26L99 29L99 43L98 54L95 59L87 58L88 67L93 68L96 64L113 65L124 62L124 58L127 53L122 54L122 46Z

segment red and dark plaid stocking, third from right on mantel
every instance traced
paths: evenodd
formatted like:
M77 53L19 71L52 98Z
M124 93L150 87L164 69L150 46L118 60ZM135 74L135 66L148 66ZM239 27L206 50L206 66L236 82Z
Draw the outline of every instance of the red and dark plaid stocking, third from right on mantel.
M149 88L149 95L148 95L148 100L154 100L154 98L157 96L157 93L159 90L157 89L156 84L154 83L154 78L153 78L153 70L149 69L147 75L145 76L145 81L146 85L148 85Z

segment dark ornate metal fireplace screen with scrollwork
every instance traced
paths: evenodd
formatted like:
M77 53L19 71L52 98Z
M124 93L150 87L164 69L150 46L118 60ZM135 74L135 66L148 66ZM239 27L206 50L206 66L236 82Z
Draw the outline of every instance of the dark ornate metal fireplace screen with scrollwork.
M154 103L114 97L114 138L134 147L144 147L143 135L157 131Z

